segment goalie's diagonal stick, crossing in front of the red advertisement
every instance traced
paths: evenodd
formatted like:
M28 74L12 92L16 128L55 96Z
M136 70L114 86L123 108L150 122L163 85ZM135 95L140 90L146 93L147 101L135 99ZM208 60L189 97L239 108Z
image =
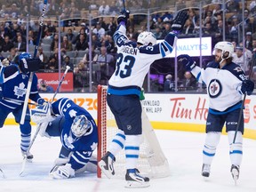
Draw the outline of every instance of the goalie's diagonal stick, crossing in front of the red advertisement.
M53 97L52 97L52 101L55 99L55 96L56 96L57 93L59 92L59 90L60 90L60 85L62 84L62 82L63 82L65 76L67 75L69 69L70 69L70 67L67 66L67 67L66 67L66 70L65 70L65 72L64 72L64 74L63 74L63 76L62 76L61 79L60 79L60 83L58 84L58 87L57 87L56 91L54 92L54 95L53 95ZM52 101L50 101L50 103L52 103ZM40 127L41 127L41 124L38 124L37 129L36 129L36 132L35 132L35 134L34 134L34 137L33 137L33 139L31 140L30 145L28 146L28 150L27 150L26 154L24 155L23 162L22 162L22 166L21 166L21 170L20 170L20 176L22 176L22 174L23 174L23 172L24 172L24 170L25 170L25 166L26 166L26 163L27 163L27 160L28 160L28 158L27 158L27 157L28 157L28 153L29 153L29 151L30 151L30 148L32 148L32 145L33 145L34 141L36 140L36 137L37 137L37 135L38 135L38 133L39 133L39 131L40 131Z

